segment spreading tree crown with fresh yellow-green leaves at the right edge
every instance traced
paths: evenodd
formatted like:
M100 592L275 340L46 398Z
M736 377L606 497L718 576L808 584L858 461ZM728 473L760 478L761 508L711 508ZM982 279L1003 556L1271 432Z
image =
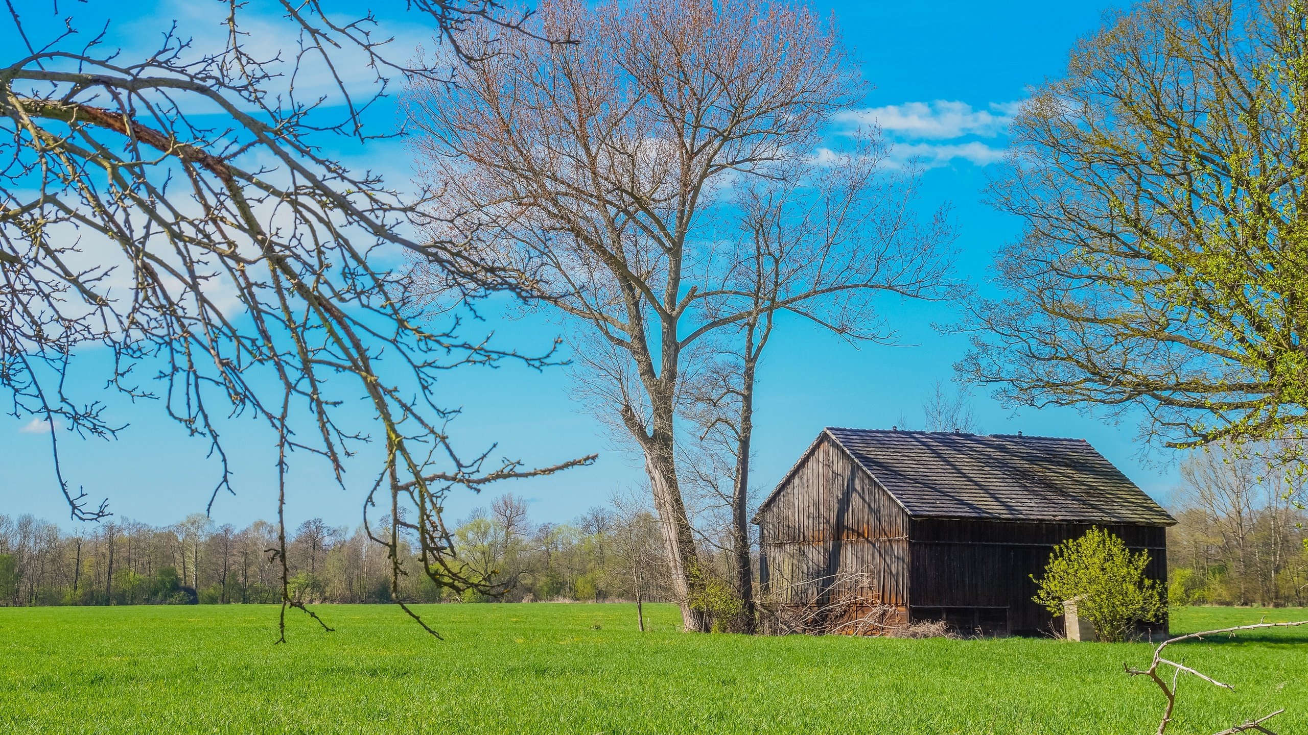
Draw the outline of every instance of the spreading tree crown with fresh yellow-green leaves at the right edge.
M1012 124L990 197L1025 222L1015 296L976 310L963 371L1015 404L1143 407L1171 446L1301 434L1305 21L1152 0L1078 44Z

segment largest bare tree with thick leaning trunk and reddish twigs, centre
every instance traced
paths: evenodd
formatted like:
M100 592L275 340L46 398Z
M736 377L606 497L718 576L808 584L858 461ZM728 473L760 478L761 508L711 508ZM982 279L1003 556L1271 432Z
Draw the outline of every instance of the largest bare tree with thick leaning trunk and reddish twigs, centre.
M787 282L760 309L723 277L751 262L742 238L719 241L712 225L734 186L807 157L858 85L835 29L803 5L557 0L531 22L578 43L510 41L453 86L416 85L420 152L442 191L436 237L477 243L589 327L573 344L583 388L644 458L672 585L698 630L676 419L693 356L751 315L814 307ZM824 272L829 292L887 288L861 265Z

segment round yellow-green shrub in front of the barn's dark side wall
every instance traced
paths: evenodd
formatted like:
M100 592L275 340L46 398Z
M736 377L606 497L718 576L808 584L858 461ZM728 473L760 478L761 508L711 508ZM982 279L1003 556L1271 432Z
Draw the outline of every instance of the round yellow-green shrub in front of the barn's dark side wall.
M1167 611L1146 566L1147 552L1131 553L1117 536L1091 528L1054 547L1044 578L1031 577L1040 587L1032 599L1058 616L1065 600L1079 596L1076 615L1095 626L1099 640L1124 641L1137 620L1158 621Z

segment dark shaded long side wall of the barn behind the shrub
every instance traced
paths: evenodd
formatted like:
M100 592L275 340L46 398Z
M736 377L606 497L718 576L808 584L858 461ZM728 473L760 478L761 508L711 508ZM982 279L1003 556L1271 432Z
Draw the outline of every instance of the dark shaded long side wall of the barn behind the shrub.
M1165 528L1104 526L1133 551L1147 549L1146 573L1167 581ZM917 519L909 526L912 613L939 619L957 608L1007 608L1008 629L1040 634L1059 630L1062 619L1031 602L1054 544L1083 535L1091 524L1003 521Z

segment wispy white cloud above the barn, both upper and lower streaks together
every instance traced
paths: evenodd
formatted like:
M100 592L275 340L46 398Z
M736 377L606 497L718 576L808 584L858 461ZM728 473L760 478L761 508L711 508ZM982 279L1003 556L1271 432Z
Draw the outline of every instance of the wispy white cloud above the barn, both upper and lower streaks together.
M934 169L967 161L988 166L1007 154L1002 139L1020 109L1020 101L993 102L978 110L967 102L935 99L852 110L837 123L879 127L893 144L892 163L914 161Z

